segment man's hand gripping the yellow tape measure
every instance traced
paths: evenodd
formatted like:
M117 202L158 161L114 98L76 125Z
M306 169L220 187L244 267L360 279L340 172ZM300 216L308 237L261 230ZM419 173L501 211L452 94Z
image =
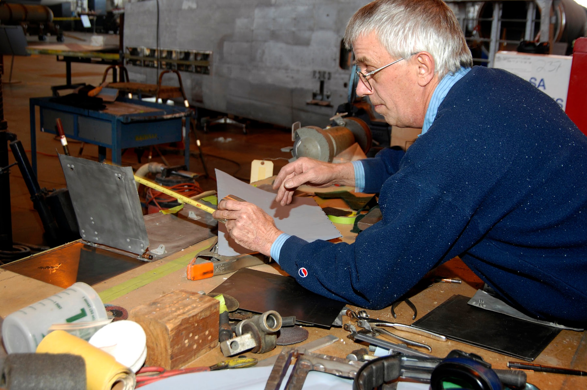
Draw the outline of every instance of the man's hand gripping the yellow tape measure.
M271 244L283 233L261 207L248 202L222 199L212 217L226 220L228 234L240 246L271 255Z

